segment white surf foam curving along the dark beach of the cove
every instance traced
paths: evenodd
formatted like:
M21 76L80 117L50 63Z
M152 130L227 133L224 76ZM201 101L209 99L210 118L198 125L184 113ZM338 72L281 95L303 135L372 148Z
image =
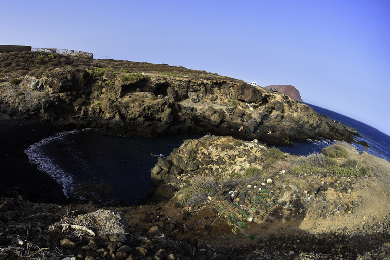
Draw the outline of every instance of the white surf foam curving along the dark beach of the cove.
M37 168L40 171L45 172L47 175L54 178L63 187L63 193L67 198L73 187L76 186L76 183L70 174L64 172L60 167L55 165L50 158L46 157L42 148L52 142L59 141L68 135L76 133L79 133L79 131L72 130L56 133L53 136L42 139L38 143L30 145L24 151L28 155L30 163L37 165Z

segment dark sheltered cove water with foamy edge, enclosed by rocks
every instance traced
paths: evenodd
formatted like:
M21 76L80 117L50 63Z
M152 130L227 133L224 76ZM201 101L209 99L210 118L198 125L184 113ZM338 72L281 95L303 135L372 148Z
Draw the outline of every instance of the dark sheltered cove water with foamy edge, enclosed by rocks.
M114 196L134 204L150 188L150 170L158 156L168 156L183 140L199 138L181 134L159 138L105 136L94 129L57 133L30 146L31 163L56 179L65 194L83 181L103 181Z

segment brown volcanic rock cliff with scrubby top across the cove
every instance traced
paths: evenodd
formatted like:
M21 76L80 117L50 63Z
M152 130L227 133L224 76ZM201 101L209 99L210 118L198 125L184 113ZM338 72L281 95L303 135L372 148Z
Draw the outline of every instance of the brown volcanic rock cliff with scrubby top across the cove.
M209 132L286 145L359 135L287 95L205 71L38 52L3 53L0 64L0 111L63 127L146 137Z

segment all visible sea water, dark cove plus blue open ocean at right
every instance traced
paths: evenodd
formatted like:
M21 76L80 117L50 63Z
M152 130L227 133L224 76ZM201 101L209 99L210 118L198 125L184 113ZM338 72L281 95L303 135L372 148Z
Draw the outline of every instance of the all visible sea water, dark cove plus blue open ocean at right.
M356 128L365 141L362 150L390 161L390 136L377 129L336 112L311 104L317 113ZM168 156L183 140L199 138L198 134L181 134L158 138L105 136L94 129L56 133L32 144L25 151L32 164L63 187L66 196L73 188L86 181L104 182L112 187L113 195L125 204L135 204L143 198L151 184L150 170L157 163L157 156ZM294 146L278 146L284 152L295 155L320 153L323 147L334 142L294 142Z

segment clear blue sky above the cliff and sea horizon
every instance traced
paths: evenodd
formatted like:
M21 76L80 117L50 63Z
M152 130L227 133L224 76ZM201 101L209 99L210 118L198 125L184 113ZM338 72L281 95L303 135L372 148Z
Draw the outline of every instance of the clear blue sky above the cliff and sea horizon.
M390 135L390 1L4 1L0 44L166 63L261 86Z

